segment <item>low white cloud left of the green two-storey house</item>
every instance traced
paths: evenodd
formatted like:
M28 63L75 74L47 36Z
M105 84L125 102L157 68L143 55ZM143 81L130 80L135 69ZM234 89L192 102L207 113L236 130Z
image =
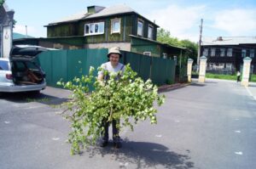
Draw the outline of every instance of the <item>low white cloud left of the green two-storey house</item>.
M15 25L14 32L26 35L26 25ZM27 25L27 35L32 37L46 37L46 29L43 26Z

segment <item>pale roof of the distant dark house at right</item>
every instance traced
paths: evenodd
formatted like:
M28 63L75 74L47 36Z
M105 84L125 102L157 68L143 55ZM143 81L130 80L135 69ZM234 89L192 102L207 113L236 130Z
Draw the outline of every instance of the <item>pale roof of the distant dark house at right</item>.
M202 46L256 44L256 37L203 37Z

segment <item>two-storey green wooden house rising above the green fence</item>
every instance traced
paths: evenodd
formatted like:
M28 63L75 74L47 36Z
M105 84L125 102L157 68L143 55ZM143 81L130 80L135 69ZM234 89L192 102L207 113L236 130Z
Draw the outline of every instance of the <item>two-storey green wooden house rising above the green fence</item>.
M111 7L90 6L87 11L51 22L47 38L17 39L14 44L33 43L47 48L111 48L172 58L182 54L179 48L156 41L157 28L150 21L126 5Z

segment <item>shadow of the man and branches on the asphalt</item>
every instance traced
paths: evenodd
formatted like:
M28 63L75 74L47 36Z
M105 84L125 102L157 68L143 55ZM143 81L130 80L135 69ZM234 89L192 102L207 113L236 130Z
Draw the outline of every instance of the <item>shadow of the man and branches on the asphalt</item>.
M86 150L92 158L94 155L111 155L119 161L119 168L136 165L137 168L164 166L165 168L189 169L194 162L189 161L189 155L180 155L170 151L166 146L154 143L129 142L123 143L121 149L113 149L110 144L107 148L92 147ZM187 150L189 153L189 150ZM129 168L129 166L128 166Z

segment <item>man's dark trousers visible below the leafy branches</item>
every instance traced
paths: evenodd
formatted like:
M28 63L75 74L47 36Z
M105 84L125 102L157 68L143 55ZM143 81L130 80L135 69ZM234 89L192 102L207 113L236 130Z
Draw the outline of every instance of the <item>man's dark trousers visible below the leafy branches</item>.
M119 121L113 120L112 121L112 132L113 132L113 142L118 143L120 141L119 138L119 129L116 127L119 124ZM108 127L109 127L108 120L102 121L102 126L104 127L104 131L102 132L102 140L108 141Z

